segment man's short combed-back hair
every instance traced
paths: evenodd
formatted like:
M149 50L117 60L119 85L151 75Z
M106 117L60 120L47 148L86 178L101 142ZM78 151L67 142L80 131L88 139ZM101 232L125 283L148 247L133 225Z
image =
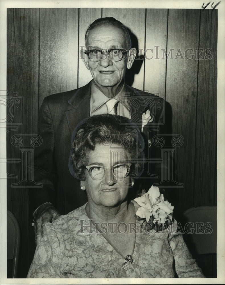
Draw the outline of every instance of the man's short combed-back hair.
M121 29L125 35L126 39L126 48L131 48L131 37L130 34L127 30L127 27L125 27L120 21L116 20L113 17L105 17L105 18L99 18L95 20L93 23L89 25L89 27L86 30L85 33L85 45L87 47L87 38L88 38L88 33L93 30L96 27L101 27L101 26L113 26Z

